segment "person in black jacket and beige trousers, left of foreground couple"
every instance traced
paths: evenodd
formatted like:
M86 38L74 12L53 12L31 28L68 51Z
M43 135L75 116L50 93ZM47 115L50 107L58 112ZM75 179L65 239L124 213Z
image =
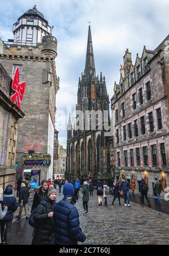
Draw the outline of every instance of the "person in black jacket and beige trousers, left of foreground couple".
M21 183L21 189L19 192L19 215L17 218L21 218L23 208L25 209L26 219L29 219L29 206L28 206L28 198L29 198L29 189L26 187L25 183Z

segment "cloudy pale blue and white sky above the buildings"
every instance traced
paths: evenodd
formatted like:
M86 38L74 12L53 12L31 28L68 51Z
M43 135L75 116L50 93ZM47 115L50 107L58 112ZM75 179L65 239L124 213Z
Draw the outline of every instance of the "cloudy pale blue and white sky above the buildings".
M168 35L168 0L0 0L0 37L13 38L12 25L25 11L37 6L54 29L58 56L56 72L60 77L57 110L74 109L78 78L84 70L88 23L91 23L96 73L106 77L109 98L114 81L119 82L119 67L126 48L141 55L143 46L153 50ZM59 126L60 120L57 119ZM59 130L59 143L66 146L66 131Z

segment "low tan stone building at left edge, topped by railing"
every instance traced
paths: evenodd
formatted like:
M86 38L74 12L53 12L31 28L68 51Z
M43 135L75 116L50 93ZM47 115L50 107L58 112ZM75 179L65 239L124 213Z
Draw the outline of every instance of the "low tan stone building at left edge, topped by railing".
M0 188L15 186L15 159L19 118L24 117L11 102L12 79L0 63Z

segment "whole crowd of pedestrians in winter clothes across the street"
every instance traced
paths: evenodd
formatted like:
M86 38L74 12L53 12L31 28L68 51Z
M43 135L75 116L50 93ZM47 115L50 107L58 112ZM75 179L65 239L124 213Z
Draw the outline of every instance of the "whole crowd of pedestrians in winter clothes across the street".
M90 197L94 196L94 180L81 181L77 178L75 180L55 179L54 181L42 180L41 186L34 192L34 199L32 203L31 214L29 216L29 192L30 184L25 183L21 178L17 180L17 197L19 197L19 214L17 218L20 219L23 209L25 210L26 219L29 219L29 224L34 227L33 231L33 245L75 245L86 240L86 235L82 232L79 223L79 213L75 207L79 199L79 190L82 185L82 201L83 214L88 214L88 201ZM56 186L59 186L59 193L63 187L64 198L56 202ZM121 183L113 180L112 194L114 205L115 199L118 198L121 206L121 196L124 199L124 206L130 207L130 189L134 197L134 190L136 184L134 181L129 183L125 177L121 178ZM155 178L154 191L157 194L158 204L161 205L160 194L162 192L162 185ZM8 245L10 243L10 232L14 212L17 210L17 202L12 193L12 186L7 185L3 196L0 196L0 244ZM144 179L141 179L140 192L141 204L144 205L144 197L150 201L147 196L148 184ZM96 185L96 194L98 197L98 205L102 206L104 198L104 206L108 206L108 194L110 187L106 180L103 182L99 180Z

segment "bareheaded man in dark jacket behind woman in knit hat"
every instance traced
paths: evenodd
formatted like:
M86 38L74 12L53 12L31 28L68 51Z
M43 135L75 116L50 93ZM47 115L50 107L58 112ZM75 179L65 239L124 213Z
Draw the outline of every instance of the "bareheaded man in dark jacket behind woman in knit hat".
M48 181L42 180L42 186L35 192L31 212L39 205L43 198L47 196L48 192Z

